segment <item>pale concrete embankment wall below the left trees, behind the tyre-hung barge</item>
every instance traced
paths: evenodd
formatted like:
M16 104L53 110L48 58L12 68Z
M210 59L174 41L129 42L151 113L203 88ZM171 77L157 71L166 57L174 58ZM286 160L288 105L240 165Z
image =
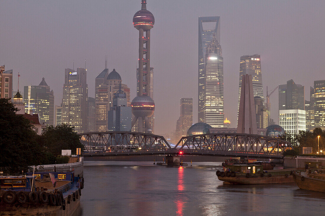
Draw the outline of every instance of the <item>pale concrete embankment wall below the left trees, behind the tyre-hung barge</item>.
M80 157L78 162L75 163L62 163L62 164L46 164L38 165L35 170L38 171L74 171L75 176L84 176L84 157ZM34 166L32 166L31 172L33 172Z

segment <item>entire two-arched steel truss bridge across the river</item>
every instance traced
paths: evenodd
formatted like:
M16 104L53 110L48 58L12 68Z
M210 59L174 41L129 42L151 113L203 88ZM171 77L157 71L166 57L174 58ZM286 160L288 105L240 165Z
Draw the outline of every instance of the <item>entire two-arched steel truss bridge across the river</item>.
M290 142L255 134L212 133L182 137L171 147L164 137L128 131L79 134L85 157L131 155L204 155L249 158L282 158Z

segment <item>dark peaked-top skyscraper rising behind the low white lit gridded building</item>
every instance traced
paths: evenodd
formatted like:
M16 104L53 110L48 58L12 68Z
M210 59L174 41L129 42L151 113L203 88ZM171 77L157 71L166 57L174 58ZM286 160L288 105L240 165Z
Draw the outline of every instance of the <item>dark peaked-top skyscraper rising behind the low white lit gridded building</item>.
M305 87L295 84L292 79L279 85L279 110L305 110Z

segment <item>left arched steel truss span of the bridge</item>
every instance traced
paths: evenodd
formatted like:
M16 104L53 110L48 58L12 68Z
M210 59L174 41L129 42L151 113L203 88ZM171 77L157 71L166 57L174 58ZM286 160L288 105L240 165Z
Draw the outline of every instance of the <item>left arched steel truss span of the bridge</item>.
M103 150L100 147L106 147L109 150L111 146L130 146L135 149L136 145L142 150L166 150L172 149L164 137L128 131L113 131L113 132L89 132L79 134L82 136L82 141L85 146L91 146L93 149ZM97 148L96 148L97 147ZM131 151L125 149L125 151ZM96 150L97 151L97 150Z

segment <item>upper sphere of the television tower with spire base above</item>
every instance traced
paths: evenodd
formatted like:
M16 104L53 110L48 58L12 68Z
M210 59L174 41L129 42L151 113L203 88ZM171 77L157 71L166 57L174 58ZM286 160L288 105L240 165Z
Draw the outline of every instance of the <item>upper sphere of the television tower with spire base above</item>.
M136 12L136 14L133 16L133 25L137 30L149 30L153 27L153 24L155 24L155 18L153 17L152 13L147 10L146 4L147 0L142 0L141 10Z

